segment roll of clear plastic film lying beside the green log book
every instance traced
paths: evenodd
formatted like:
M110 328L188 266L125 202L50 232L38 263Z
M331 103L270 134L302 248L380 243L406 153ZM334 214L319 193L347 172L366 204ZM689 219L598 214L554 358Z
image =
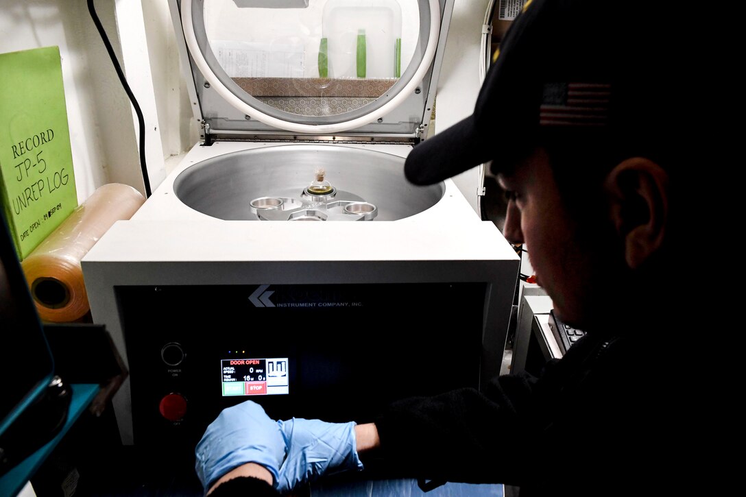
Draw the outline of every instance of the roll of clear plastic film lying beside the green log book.
M130 219L144 202L133 187L104 184L22 260L40 319L77 322L87 316L81 259L114 222Z

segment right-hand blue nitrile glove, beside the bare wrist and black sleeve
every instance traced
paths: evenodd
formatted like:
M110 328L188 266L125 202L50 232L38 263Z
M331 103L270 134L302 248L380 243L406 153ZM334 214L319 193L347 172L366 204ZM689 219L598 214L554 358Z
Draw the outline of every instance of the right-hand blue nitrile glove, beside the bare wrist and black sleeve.
M293 418L278 421L278 426L287 446L287 455L280 466L280 492L292 490L296 484L313 481L320 475L363 469L357 456L354 422Z

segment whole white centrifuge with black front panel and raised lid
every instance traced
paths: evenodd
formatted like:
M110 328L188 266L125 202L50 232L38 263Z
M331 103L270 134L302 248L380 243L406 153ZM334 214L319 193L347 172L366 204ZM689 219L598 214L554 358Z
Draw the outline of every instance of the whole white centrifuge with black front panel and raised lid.
M403 172L452 0L171 7L201 140L82 263L130 371L122 440L193 448L246 399L363 422L498 374L518 257L453 181Z

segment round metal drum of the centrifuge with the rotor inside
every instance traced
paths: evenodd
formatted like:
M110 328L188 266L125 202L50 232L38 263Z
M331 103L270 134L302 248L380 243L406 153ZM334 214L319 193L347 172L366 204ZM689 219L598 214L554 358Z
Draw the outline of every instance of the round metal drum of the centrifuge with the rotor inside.
M333 192L307 190L323 168ZM178 199L217 219L395 221L442 199L445 187L416 187L404 178L404 158L380 151L324 145L237 151L184 169Z

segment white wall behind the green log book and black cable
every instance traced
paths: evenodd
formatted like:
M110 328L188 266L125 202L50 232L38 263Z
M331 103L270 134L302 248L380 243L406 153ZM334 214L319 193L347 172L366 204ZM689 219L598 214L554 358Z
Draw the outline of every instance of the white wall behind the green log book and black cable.
M133 0L95 1L95 10L120 63L123 60L120 36L137 31L133 29L137 16L134 20L127 19L124 26L117 25L116 19L118 15L121 17L122 10L132 10L133 4ZM128 75L128 80L138 101L142 100L143 111L150 115L150 119L146 119L148 131L159 134L146 139L145 145L163 142L149 151L147 160L148 169L157 181L164 159L188 149L196 141L197 133L195 123L191 122L186 87L175 55L168 6L165 1L143 4L145 8L139 22L142 31L143 22L148 29L148 49L153 47L149 51L149 63L157 64L158 70L153 72L149 92L136 91L137 84L142 85L139 72L131 71L135 76ZM142 37L135 43L127 36L124 38L131 43L131 49L137 44L145 47ZM129 184L145 194L137 121L90 18L87 2L0 0L0 52L43 46L60 47L78 202L85 201L96 188L107 183ZM128 65L132 64L124 65L126 74ZM3 98L12 98L12 94L0 90ZM156 111L160 117L156 117ZM170 124L161 127L160 121ZM157 184L151 186L154 190Z

